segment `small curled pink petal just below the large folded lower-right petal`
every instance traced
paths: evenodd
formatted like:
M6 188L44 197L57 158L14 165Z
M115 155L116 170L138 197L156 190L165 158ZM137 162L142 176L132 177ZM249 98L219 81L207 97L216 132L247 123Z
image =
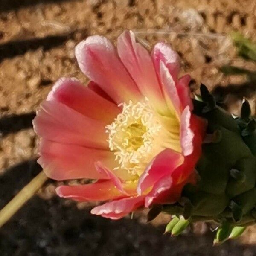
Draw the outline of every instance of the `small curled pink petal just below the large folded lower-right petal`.
M148 193L145 197L145 207L150 207L151 204L154 202L154 199L159 197L163 192L170 189L172 186L172 176L166 175L158 180L153 189Z

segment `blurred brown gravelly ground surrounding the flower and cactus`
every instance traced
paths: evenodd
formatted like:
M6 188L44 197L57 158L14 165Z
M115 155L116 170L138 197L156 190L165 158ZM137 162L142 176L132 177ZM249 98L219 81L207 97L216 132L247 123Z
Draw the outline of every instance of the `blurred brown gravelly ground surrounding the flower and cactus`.
M256 40L256 0L0 0L0 209L37 175L38 138L32 119L61 76L84 83L74 47L89 35L115 42L132 29L145 47L165 40L181 57L181 73L200 82L218 102L239 113L243 96L255 113L256 83L225 76L223 65L256 70L236 54L230 37ZM255 80L254 80L255 81ZM198 223L178 237L164 236L169 216L146 223L145 212L120 221L90 215L92 204L41 191L0 229L1 256L254 256L256 229L212 247L214 233Z

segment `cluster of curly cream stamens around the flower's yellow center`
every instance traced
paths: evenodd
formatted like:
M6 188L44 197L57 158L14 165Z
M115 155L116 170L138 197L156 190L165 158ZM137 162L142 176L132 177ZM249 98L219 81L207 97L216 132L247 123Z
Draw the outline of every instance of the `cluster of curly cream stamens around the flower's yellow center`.
M115 169L140 176L152 157L163 150L158 139L163 129L148 99L135 104L123 103L122 113L106 126L109 148L118 162Z

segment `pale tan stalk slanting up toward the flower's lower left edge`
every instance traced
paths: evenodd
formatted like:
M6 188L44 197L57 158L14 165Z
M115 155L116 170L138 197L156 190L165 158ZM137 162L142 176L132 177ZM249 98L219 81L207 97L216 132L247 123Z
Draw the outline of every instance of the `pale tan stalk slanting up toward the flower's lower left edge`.
M6 204L0 211L0 227L3 226L10 218L26 203L33 195L41 188L47 180L44 172L40 172L34 179L32 179L15 197Z

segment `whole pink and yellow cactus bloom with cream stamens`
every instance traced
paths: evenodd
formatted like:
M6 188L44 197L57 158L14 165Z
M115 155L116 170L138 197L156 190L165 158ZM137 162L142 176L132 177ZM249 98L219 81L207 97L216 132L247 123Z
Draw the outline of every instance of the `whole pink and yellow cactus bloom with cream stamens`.
M195 180L205 123L192 114L190 76L178 79L179 58L158 43L151 55L125 31L117 51L102 36L76 47L91 80L59 79L34 120L41 136L38 162L77 201L107 201L92 213L119 219L138 207L173 203Z

